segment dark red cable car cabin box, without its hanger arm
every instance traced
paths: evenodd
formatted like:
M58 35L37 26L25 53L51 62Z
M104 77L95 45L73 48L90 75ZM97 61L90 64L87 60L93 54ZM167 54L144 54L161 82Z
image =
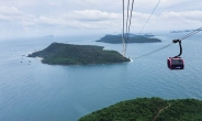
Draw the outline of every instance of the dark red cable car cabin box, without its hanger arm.
M169 57L168 58L168 68L170 69L183 69L184 62L181 57Z

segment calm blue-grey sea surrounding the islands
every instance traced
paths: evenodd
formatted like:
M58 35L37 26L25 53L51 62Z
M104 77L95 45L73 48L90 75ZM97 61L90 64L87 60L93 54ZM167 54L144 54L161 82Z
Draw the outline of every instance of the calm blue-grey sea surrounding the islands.
M53 42L99 45L122 54L122 44L94 42L103 35L72 35L0 41L0 121L77 121L120 101L159 97L202 100L202 34L182 41L183 70L170 70L167 58L179 54L173 44L188 33L155 34L161 43L127 44L132 62L63 66L26 57ZM142 56L142 57L139 57Z

